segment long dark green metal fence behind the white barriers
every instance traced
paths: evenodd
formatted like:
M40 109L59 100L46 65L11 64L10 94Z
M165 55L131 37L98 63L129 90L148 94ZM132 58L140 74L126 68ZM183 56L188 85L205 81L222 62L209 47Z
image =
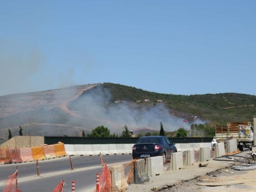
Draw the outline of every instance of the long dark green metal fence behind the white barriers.
M212 137L172 137L173 143L209 143ZM44 143L52 145L59 141L65 144L123 144L136 143L137 137L44 137Z

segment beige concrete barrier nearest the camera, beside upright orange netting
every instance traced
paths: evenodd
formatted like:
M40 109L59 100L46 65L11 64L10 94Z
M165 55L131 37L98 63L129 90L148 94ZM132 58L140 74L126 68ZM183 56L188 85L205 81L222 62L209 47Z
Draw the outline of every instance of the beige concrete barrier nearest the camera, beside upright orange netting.
M128 189L128 183L125 179L125 169L123 165L114 165L109 167L111 172L112 189L111 191L122 192Z

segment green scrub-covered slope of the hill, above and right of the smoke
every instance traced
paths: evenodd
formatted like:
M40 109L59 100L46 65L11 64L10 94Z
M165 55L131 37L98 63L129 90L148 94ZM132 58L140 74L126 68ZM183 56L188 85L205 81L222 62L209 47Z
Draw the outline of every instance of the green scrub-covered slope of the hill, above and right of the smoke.
M188 120L193 119L188 115L191 114L213 123L225 125L232 121L252 121L256 112L256 96L247 94L218 93L185 96L154 93L112 83L104 83L102 87L111 90L112 102L117 100L136 102L151 99L148 105L154 105L157 103L157 99L163 99L163 103L169 109L175 110L173 114L181 114Z

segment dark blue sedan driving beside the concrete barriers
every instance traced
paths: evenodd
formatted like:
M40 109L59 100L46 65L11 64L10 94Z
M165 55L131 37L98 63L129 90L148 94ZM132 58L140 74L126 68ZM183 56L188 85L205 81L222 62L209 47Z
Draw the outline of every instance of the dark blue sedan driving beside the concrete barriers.
M171 159L171 154L177 152L175 143L164 136L140 137L132 148L132 157L145 158L163 156L163 163Z

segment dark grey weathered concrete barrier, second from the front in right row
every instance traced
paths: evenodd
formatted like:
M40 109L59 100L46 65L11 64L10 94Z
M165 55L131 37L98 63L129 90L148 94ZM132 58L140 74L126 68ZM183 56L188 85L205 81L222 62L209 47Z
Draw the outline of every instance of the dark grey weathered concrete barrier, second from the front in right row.
M139 159L134 162L134 183L143 184L144 182L149 181L148 169L144 159Z

